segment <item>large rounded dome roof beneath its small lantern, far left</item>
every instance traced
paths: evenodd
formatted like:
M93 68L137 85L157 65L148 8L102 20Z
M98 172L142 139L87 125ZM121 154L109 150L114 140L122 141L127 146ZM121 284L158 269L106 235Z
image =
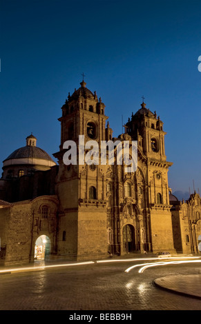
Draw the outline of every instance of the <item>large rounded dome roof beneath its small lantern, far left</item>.
M14 152L12 152L7 159L4 161L8 161L10 159L43 159L54 162L50 155L46 153L46 151L42 150L41 148L37 148L37 146L30 146L26 145L23 148L18 148ZM3 161L3 162L4 162Z

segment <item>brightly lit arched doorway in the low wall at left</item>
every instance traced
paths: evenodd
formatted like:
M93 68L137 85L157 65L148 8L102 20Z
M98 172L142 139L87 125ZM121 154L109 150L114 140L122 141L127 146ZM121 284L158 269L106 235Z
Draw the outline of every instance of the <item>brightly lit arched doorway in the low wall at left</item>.
M35 243L35 260L45 260L50 257L50 239L41 235Z

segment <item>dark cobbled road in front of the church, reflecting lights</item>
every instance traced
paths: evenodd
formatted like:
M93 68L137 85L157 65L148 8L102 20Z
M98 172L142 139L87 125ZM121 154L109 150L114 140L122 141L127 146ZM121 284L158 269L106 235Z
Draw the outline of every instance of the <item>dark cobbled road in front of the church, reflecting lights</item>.
M0 310L201 310L201 301L156 287L174 274L201 274L199 265L124 272L134 262L79 265L1 274Z

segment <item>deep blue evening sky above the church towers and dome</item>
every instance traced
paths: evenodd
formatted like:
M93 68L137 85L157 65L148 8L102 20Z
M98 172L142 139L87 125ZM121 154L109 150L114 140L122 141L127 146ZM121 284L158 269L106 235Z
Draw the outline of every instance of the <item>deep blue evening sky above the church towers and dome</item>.
M169 186L201 192L200 0L1 0L0 12L0 161L31 132L59 150L61 105L84 72L114 136L144 95L167 132Z

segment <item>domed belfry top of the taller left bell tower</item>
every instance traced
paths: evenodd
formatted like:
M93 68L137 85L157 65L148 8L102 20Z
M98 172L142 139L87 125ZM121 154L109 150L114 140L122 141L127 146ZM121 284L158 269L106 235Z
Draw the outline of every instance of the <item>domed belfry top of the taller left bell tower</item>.
M69 139L78 142L82 134L86 141L93 139L99 144L106 139L105 123L108 117L104 114L105 105L101 98L97 98L96 92L92 93L86 88L84 80L80 85L71 96L68 94L61 108L61 147Z

